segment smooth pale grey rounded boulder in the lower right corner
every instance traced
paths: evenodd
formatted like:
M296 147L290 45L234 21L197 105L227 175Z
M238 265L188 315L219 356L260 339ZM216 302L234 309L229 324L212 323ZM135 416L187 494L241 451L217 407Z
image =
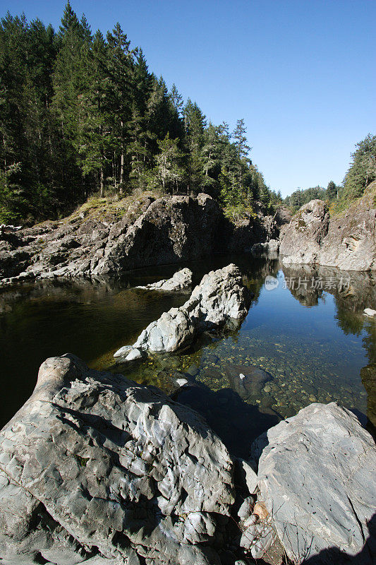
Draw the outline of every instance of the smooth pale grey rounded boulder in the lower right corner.
M253 456L259 500L293 563L375 563L376 448L351 412L311 404L260 436Z

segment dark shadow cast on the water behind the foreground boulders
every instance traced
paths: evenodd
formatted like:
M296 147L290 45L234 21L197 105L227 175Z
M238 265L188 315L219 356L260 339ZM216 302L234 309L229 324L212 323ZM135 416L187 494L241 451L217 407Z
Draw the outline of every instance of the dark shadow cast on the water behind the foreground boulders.
M231 388L214 392L196 383L183 386L172 398L200 413L222 439L232 456L248 459L252 442L282 419L277 412L244 402Z

